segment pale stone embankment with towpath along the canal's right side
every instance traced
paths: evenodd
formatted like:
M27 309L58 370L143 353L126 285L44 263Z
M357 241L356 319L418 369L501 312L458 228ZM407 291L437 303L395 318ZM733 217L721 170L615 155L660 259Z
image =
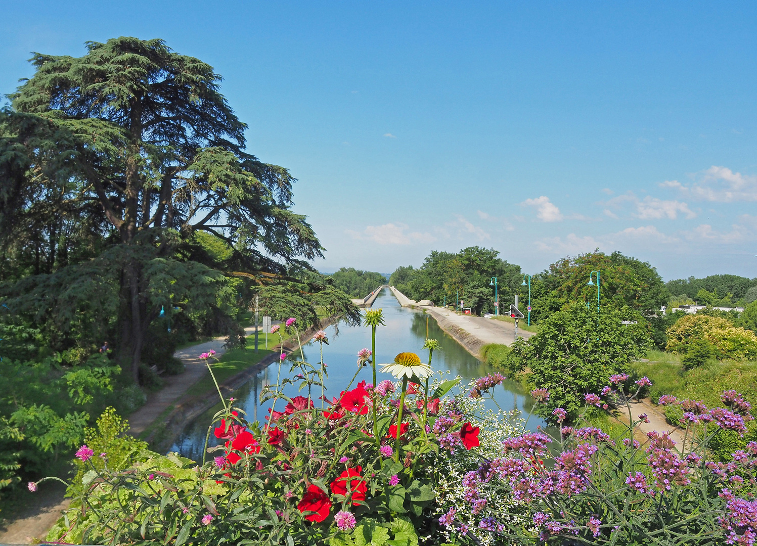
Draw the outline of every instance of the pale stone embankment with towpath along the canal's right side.
M411 300L394 286L390 286L389 289L403 307L422 309L431 317L434 317L444 332L452 336L456 342L463 345L475 357L480 358L481 347L489 343L512 345L515 342L515 324L484 319L483 317L472 317L471 315L459 315L453 310L435 307L432 301ZM534 334L524 330L518 331L519 338L528 339L531 335Z

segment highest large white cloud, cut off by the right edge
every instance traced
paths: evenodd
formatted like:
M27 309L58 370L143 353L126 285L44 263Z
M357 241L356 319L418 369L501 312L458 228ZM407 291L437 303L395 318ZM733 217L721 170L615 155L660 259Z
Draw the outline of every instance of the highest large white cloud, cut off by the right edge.
M697 173L691 186L684 186L678 180L665 180L660 186L677 189L684 195L702 201L757 201L757 176L734 173L727 167L716 165Z

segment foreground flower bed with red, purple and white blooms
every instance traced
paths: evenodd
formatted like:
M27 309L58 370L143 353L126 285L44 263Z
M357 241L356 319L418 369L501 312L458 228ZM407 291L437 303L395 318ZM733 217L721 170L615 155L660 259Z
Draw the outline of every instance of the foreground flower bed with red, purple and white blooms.
M372 317L380 325L380 314ZM293 326L294 320L288 326ZM369 322L368 326L371 326ZM327 345L326 334L316 341ZM204 460L142 449L111 465L108 448L76 451L83 471L74 500L48 538L79 544L754 544L757 443L712 458L721 432L743 435L752 407L724 392L725 408L661 398L684 410L686 435L640 435L648 419L631 402L650 387L625 373L584 394L583 409L552 407L547 388L531 392L548 408L553 434L528 432L515 414L484 401L504 377L467 388L435 377L428 363L400 353L382 371L396 381L357 381L377 364L358 353L338 396L319 395L326 367L294 360L261 393L273 407L250 422L223 400L208 428L220 444ZM205 355L212 373L210 354ZM285 370L284 370L285 371ZM297 385L301 395L282 388ZM588 426L589 410L625 410L618 438ZM541 410L544 413L544 410ZM526 420L526 423L528 420ZM550 427L551 429L551 427ZM94 441L94 438L93 438ZM106 445L101 442L101 445ZM37 482L38 483L38 482ZM30 483L36 490L37 483Z

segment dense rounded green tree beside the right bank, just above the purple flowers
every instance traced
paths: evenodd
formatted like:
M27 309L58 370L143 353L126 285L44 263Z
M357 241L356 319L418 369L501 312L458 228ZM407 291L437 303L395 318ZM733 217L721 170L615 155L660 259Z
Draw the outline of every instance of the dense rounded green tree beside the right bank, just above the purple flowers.
M512 345L510 367L526 373L531 388L546 388L550 400L540 404L543 417L562 407L571 418L584 407L584 394L598 393L613 373L646 354L651 342L642 323L621 324L637 314L603 307L600 312L573 304L542 320L539 332Z

